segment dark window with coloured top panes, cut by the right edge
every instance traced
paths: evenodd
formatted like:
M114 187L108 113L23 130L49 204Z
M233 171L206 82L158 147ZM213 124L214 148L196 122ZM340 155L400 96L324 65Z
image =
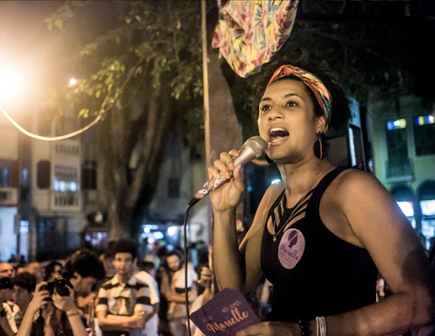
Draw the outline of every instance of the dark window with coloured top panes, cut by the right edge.
M420 116L415 119L414 142L417 156L435 154L435 124L433 116Z

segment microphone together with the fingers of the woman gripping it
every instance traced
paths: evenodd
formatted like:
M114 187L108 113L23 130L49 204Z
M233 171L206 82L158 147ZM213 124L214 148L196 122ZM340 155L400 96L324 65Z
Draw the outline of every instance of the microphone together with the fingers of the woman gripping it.
M195 205L200 199L206 197L212 190L216 190L218 187L227 183L227 181L233 176L233 169L237 166L246 165L254 158L258 158L264 153L267 147L267 142L260 137L252 137L247 139L242 148L239 150L238 156L233 158L229 153L222 153L221 159L215 161L215 168L209 168L211 174L215 173L215 176L209 178L206 184L198 191L195 197L189 202L189 206ZM231 153L231 152L230 152ZM234 159L234 161L233 161ZM233 162L231 162L233 161ZM234 170L235 178L238 178L241 168ZM219 172L219 173L218 173ZM217 175L219 174L219 175ZM242 186L243 187L243 184Z

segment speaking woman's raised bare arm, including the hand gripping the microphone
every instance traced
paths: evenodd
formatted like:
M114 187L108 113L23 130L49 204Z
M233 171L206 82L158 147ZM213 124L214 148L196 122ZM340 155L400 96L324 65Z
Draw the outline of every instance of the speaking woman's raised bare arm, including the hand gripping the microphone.
M210 176L219 178L227 176L233 169L231 156L237 151L222 153L220 160L215 161L214 168L209 168ZM228 176L227 176L228 177ZM261 277L260 246L263 235L266 208L269 200L275 195L275 188L269 188L257 209L254 223L244 241L238 246L236 230L236 207L241 199L244 184L240 167L234 168L229 182L210 193L214 218L214 251L213 264L219 289L224 287L242 293L252 291Z

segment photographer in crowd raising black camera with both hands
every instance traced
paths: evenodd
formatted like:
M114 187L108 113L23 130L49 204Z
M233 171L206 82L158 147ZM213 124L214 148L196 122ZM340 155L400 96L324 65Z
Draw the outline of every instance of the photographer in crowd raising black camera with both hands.
M62 296L57 293L59 288L55 285L53 287L47 286L47 283L39 283L36 286L34 298L27 307L17 336L40 336L42 333L51 336L61 333L60 331L65 336L88 335L75 304L73 288L69 288L68 295ZM38 311L39 316L35 321L34 317ZM68 323L63 321L64 316ZM61 317L60 322L58 317Z

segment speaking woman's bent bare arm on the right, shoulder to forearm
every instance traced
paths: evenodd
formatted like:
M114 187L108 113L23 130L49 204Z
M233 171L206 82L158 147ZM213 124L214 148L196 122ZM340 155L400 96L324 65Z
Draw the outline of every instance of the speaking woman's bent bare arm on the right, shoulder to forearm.
M335 197L393 294L382 302L328 317L328 330L333 334L397 335L435 322L433 270L389 192L371 175L352 171L344 175Z

